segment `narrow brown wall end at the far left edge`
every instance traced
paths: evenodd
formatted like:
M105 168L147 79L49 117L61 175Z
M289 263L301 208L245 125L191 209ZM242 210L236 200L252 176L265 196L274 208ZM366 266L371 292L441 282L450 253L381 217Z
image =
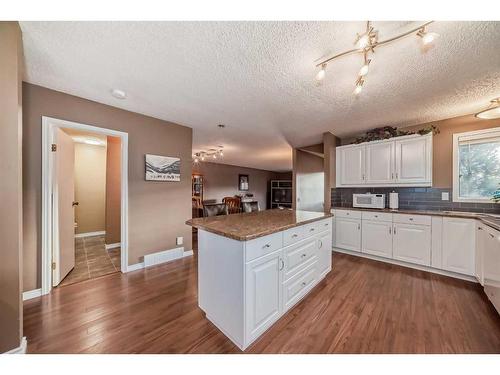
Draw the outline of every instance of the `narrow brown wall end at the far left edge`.
M18 23L0 22L0 353L23 334L22 61Z

